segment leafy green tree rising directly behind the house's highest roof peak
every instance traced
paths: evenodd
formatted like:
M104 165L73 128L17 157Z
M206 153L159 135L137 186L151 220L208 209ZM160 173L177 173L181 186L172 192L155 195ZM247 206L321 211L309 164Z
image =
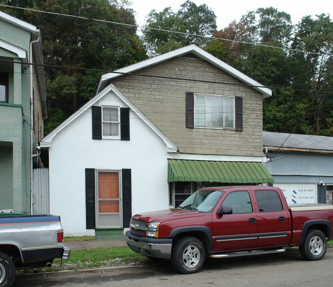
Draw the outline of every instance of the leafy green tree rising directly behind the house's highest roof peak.
M203 46L206 40L197 35L209 36L216 29L216 15L207 5L197 6L188 0L180 7L176 13L171 7L166 7L162 12L152 10L148 14L142 39L150 55L169 52L192 43Z

